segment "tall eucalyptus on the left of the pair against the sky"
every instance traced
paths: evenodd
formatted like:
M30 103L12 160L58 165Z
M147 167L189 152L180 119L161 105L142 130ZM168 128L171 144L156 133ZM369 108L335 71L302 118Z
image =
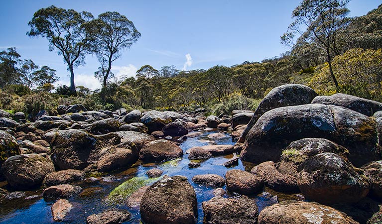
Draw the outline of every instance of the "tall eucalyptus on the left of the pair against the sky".
M42 36L49 41L49 51L57 50L62 55L70 72L70 93L76 95L74 68L85 64L88 33L81 27L92 19L90 12L77 12L73 9L51 5L37 10L28 22L28 36Z

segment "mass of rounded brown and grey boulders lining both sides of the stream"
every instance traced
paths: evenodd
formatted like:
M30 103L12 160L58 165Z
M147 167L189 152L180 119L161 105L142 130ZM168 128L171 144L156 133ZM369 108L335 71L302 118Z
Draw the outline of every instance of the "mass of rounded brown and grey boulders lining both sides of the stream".
M270 91L255 112L233 111L219 117L206 117L203 109L96 112L82 105L61 105L57 112L40 112L29 122L21 112L0 111L0 181L7 183L7 190L0 189L0 204L22 191L44 189L43 199L54 202L51 219L61 222L76 207L71 197L85 191L73 183L97 182L95 173L124 170L137 162L176 160L184 154L189 169L201 169L203 161L212 157L233 155L222 165L235 167L239 161L255 165L250 170L229 169L224 177L208 170L192 179L151 170L149 179L125 195L127 204L139 208L145 224L196 223L202 214L198 214L199 193L190 185L193 182L216 189L215 197L202 202L204 223L377 224L382 220L379 102L345 94L317 96L309 87L288 84ZM216 128L220 133L209 134L211 142L230 133L237 143L179 147L201 131ZM264 188L298 193L302 201L275 200L259 212L251 196ZM367 215L360 215L361 210ZM128 210L116 207L89 214L86 222L130 219Z

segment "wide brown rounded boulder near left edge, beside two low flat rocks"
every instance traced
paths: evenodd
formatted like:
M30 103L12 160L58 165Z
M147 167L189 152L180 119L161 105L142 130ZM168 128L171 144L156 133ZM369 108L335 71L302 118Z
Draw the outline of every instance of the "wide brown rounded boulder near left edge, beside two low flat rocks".
M55 171L52 161L43 154L11 156L2 164L1 170L8 184L19 190L41 185L45 175Z

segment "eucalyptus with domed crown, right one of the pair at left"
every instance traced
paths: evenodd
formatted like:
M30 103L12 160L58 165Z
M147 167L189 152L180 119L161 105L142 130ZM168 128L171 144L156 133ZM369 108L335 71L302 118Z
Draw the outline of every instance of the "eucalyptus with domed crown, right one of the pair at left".
M113 76L112 63L121 57L124 49L130 48L138 40L140 33L125 15L116 11L104 12L82 27L89 35L89 51L95 53L101 63L95 76L105 88L108 79Z

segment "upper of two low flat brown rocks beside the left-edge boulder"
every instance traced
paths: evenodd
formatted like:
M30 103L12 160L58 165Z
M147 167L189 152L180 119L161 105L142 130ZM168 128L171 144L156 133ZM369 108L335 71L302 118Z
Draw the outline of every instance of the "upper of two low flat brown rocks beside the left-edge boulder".
M44 184L47 186L70 184L74 181L84 180L84 178L85 173L80 170L61 170L48 173L45 176Z

